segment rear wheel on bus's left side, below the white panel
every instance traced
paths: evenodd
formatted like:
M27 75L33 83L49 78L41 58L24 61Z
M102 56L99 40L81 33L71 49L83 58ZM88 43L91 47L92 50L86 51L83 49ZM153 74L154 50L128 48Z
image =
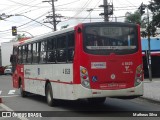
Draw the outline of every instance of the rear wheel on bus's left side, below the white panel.
M52 86L50 83L48 83L46 87L46 99L49 106L56 105L56 100L53 99Z

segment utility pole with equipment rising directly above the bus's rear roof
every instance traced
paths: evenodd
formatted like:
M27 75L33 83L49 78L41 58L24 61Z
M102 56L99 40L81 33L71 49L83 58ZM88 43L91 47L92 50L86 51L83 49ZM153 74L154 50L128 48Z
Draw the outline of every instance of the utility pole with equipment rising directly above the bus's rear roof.
M104 8L104 13L101 13L99 15L104 15L104 21L109 21L109 15L113 15L113 3L110 5L108 4L107 0L103 0L103 5L100 5L99 7Z

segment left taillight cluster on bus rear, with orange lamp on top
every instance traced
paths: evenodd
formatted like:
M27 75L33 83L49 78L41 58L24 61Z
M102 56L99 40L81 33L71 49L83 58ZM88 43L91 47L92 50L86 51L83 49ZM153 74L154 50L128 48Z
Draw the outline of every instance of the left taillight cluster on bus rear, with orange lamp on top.
M88 71L85 67L80 66L81 84L83 87L90 88Z

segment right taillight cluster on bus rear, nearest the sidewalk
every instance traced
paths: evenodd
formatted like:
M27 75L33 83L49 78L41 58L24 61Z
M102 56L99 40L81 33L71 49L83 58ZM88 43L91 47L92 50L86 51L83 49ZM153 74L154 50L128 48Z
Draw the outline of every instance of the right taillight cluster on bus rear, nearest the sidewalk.
M142 65L139 65L136 68L136 75L135 75L135 86L139 85L143 80L143 67Z

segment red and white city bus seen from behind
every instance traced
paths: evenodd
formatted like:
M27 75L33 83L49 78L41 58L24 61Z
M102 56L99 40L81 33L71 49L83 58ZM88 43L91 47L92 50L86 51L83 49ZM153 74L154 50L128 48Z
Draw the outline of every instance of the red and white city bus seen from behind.
M143 95L140 26L128 23L81 23L72 28L18 42L11 55L13 87L58 99Z

